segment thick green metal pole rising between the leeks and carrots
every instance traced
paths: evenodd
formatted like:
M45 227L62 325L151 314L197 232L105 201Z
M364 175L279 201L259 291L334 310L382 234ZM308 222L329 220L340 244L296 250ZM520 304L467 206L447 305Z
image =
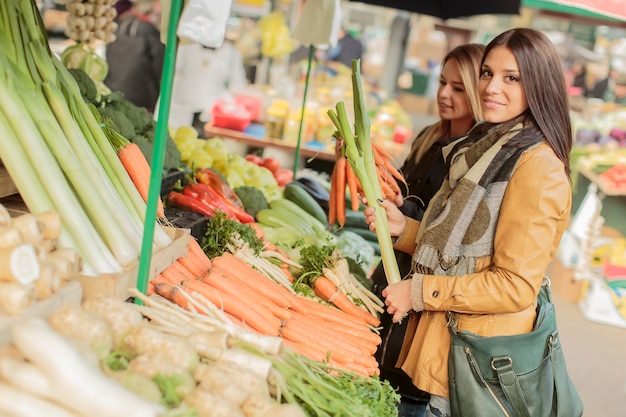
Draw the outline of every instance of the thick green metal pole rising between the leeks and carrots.
M137 276L137 289L143 294L148 289L150 274L150 262L152 261L152 241L154 240L154 226L156 224L157 202L161 198L161 181L163 172L163 160L165 158L165 146L168 135L168 121L170 118L170 102L172 100L172 84L174 81L174 69L176 67L176 50L178 37L176 29L182 11L183 0L172 0L170 19L167 26L167 45L165 47L165 59L163 62L163 75L161 76L161 98L159 99L159 116L157 119L154 138L154 153L152 155L152 173L150 175L150 188L146 204L146 223L143 230L141 254L139 256L139 271ZM141 300L135 299L135 303L141 304Z

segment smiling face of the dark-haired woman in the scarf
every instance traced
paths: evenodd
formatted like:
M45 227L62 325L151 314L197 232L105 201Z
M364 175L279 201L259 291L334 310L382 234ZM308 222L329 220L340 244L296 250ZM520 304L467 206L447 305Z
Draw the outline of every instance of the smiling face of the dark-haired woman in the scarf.
M485 57L478 81L483 119L502 123L528 109L523 80L515 55L504 46L493 48Z

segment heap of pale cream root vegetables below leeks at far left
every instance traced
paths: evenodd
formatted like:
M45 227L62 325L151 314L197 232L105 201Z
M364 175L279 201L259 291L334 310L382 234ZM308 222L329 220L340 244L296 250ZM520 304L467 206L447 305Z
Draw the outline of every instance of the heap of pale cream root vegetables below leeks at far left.
M82 260L58 248L61 217L55 211L11 218L0 205L0 313L17 316L78 278Z

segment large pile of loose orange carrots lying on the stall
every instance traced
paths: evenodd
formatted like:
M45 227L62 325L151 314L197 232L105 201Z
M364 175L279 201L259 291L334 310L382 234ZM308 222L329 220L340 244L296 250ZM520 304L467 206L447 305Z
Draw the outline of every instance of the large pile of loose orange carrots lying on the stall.
M366 317L354 304L346 312L295 295L229 252L200 260L196 245L191 244L185 261L191 267L181 271L176 264L185 258L180 258L151 281L151 291L187 310L193 310L189 296L209 300L239 326L280 336L309 359L365 376L378 374L373 353L381 340L370 330L378 319ZM344 308L351 303L337 296L335 300Z

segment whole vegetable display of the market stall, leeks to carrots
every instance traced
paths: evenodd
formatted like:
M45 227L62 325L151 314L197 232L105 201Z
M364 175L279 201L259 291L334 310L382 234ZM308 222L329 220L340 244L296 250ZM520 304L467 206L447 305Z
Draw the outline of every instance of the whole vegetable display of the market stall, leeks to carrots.
M0 413L397 415L372 356L382 302L364 278L377 236L358 204L350 230L347 212L329 217L345 186L281 184L221 139L170 137L159 122L148 158L105 115L119 97L87 94L98 80L51 53L34 2L0 15L0 233L13 267L0 279ZM165 185L170 142L183 175ZM211 169L191 163L200 148ZM206 231L175 227L165 208L202 215Z

